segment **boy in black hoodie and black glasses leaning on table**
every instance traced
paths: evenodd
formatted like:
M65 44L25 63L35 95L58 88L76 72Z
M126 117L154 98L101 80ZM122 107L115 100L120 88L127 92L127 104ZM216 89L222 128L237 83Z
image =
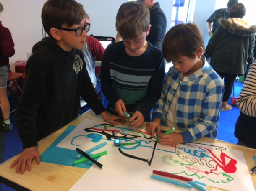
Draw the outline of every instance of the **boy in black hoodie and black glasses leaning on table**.
M47 38L32 48L24 86L16 110L18 134L24 151L13 162L16 172L31 171L32 160L40 163L37 141L78 117L80 95L89 107L109 123L123 117L110 116L86 71L84 48L86 13L75 0L48 0L42 8ZM126 122L123 119L123 122Z

